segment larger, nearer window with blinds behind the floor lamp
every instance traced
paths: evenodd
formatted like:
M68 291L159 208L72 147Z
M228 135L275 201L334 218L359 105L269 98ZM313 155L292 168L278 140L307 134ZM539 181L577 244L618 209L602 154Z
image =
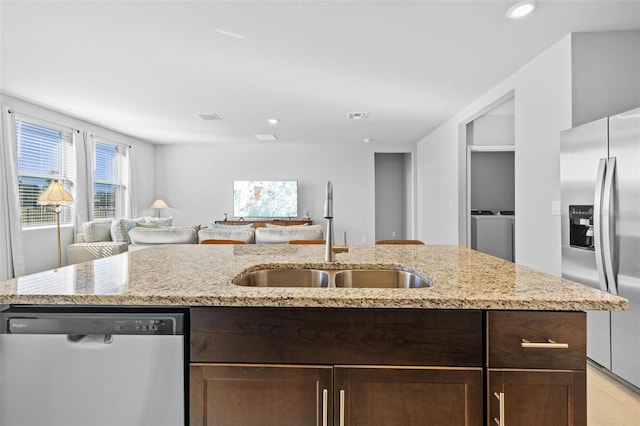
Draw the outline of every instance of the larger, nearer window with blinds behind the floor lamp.
M22 227L54 225L51 206L39 206L38 196L57 179L71 193L75 157L71 129L16 116L18 187ZM72 223L73 206L63 207L60 223Z

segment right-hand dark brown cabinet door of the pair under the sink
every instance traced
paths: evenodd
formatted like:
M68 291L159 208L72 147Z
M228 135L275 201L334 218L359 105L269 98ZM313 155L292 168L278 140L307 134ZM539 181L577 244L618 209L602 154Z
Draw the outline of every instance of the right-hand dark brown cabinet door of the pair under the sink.
M482 424L482 370L336 367L336 426Z

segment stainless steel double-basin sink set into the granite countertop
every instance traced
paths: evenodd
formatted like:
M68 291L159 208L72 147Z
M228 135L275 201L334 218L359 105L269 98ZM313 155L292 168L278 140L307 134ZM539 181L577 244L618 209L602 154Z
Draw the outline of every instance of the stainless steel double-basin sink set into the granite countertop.
M423 288L433 282L395 269L261 269L233 280L246 287Z

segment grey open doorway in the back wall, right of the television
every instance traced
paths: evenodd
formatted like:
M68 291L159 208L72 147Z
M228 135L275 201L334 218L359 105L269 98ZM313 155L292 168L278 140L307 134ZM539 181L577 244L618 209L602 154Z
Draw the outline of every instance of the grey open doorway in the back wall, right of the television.
M411 153L379 153L375 157L375 239L408 239L411 222Z

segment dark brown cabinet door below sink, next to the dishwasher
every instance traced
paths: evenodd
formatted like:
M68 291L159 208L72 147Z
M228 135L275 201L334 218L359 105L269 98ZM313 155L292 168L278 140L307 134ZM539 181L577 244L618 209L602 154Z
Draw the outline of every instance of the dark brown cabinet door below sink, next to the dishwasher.
M327 425L332 368L191 364L191 426Z

